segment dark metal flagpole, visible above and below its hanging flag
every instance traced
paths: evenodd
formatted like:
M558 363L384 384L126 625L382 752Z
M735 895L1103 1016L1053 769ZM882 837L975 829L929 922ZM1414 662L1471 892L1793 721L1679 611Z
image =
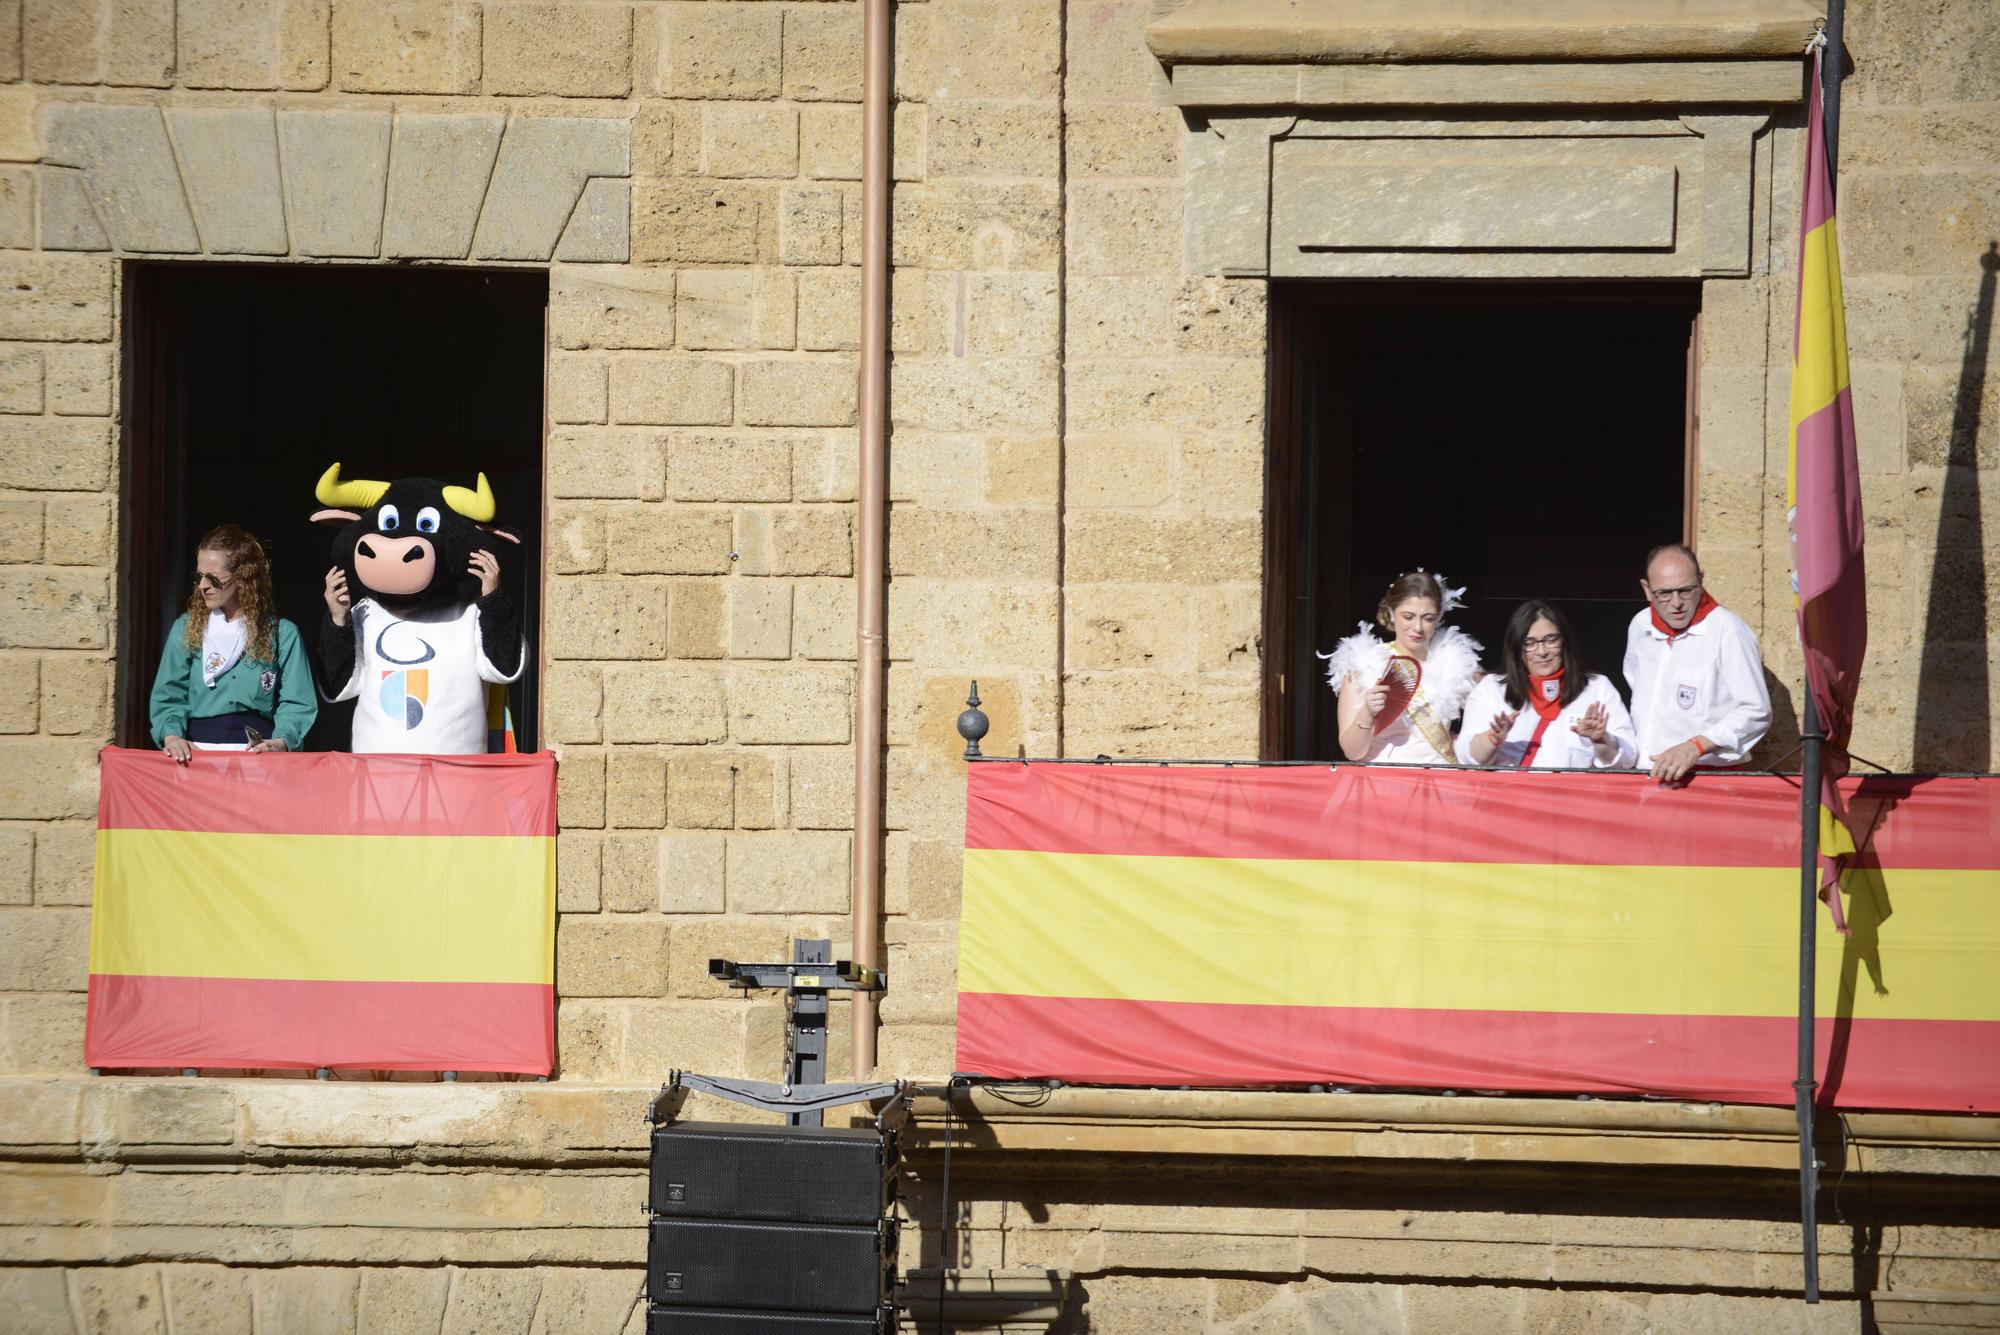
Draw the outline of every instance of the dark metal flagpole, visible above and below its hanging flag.
M1836 180L1836 152L1840 136L1840 66L1844 48L1840 46L1846 26L1846 0L1830 0L1826 6L1826 30L1814 60L1822 78L1814 78L1814 92L1824 84L1824 70L1832 64L1832 86L1824 90L1820 108L1826 134L1826 174L1828 186ZM1830 58L1830 60L1828 60ZM1812 699L1812 673L1806 673L1806 717L1800 729L1804 743L1804 773L1798 791L1798 1079L1792 1081L1798 1107L1798 1217L1802 1231L1802 1259L1806 1301L1820 1301L1820 1157L1814 1147L1814 1105L1818 1103L1818 1081L1814 1079L1814 979L1818 977L1820 945L1820 747L1826 731L1820 727L1820 709Z

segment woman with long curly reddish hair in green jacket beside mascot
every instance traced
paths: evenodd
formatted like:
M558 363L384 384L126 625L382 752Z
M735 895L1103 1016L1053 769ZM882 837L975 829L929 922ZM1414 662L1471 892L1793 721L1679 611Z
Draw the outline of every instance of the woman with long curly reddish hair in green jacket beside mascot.
M270 594L264 544L234 524L210 530L152 679L152 739L182 765L196 749L296 751L318 715L298 628Z

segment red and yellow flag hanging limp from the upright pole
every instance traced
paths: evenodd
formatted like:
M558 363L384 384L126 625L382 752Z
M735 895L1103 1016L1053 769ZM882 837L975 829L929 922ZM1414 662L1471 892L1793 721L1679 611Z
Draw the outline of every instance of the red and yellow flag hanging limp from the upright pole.
M1838 779L1848 771L1854 695L1868 652L1868 582L1862 566L1862 488L1854 452L1854 394L1848 388L1848 328L1840 306L1834 176L1822 116L1824 56L1822 36L1812 56L1812 98L1806 106L1786 520L1792 528L1792 594L1798 602L1806 689L1828 745L1820 769L1820 895L1844 929L1840 893L1834 887L1840 859L1854 851L1854 837L1844 823Z

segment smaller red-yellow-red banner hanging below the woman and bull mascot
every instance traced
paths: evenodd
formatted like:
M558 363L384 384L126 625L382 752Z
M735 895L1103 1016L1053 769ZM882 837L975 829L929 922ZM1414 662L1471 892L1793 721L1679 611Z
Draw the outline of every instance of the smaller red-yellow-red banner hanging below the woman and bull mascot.
M106 747L84 1059L546 1075L556 761Z

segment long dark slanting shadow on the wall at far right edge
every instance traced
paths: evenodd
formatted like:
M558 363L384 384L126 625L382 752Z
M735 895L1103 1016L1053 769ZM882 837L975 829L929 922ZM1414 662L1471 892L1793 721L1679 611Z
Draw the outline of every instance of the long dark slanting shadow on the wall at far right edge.
M1980 404L1992 348L2000 242L1980 256L1980 288L1966 320L1952 434L1944 442L1944 496L1924 610L1924 656L1916 687L1918 771L1992 767L1990 673L1986 662L1986 526L1980 516ZM2000 462L2000 460L1996 460Z

